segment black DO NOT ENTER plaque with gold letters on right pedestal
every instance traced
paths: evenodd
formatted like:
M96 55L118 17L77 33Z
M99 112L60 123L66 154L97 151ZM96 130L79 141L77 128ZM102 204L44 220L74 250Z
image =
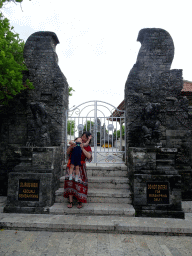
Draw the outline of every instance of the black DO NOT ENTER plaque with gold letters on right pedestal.
M168 182L147 182L148 204L169 204Z

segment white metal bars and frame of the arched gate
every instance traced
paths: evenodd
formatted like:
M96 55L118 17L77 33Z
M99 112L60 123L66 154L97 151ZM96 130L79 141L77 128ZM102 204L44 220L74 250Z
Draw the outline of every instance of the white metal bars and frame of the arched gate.
M100 105L100 103L102 105ZM88 105L86 105L88 104ZM105 104L105 105L104 105ZM82 105L86 105L84 106L82 109L80 109L79 107L82 106ZM107 105L107 106L106 106ZM109 109L109 106L112 107L112 110ZM83 110L85 110L87 107L93 107L88 113L87 115L85 116L81 116L81 113L83 112ZM98 107L104 107L106 109L108 109L110 115L109 116L105 116L105 114L103 113L103 111L101 111ZM94 111L94 116L88 116L92 111ZM121 113L121 115L119 115L118 117L113 117L113 112L114 111L117 111L118 113ZM103 117L101 116L98 116L98 113L97 112L101 112L103 114ZM76 116L74 116L74 114L76 114ZM122 115L123 114L123 115ZM116 155L117 154L125 154L126 152L126 143L125 143L125 150L122 150L122 120L124 120L124 123L125 123L125 129L126 129L126 120L125 120L125 111L124 110L120 110L120 109L117 109L116 107L114 107L112 104L110 103L107 103L107 102L104 102L104 101L98 101L98 100L94 100L94 101L87 101L87 102L84 102L84 103L81 103L80 105L78 105L77 107L74 107L72 109L69 109L67 110L67 113L66 113L66 138L68 136L68 133L67 133L67 121L69 120L69 118L71 120L75 120L77 119L77 129L78 129L78 136L79 134L82 132L83 128L84 128L84 125L81 124L79 121L82 119L82 122L83 122L83 119L86 119L86 125L87 125L87 120L90 119L90 132L92 131L93 129L93 138L94 138L94 150L92 151L93 153L93 163L97 164L97 163L107 163L107 164L122 164L123 161L120 161L120 162L117 162L115 160L115 157L114 157L114 154L115 153ZM91 119L94 120L94 127L91 127ZM98 151L98 147L97 147L97 132L98 132L98 119L104 119L104 124L105 124L105 120L108 120L108 130L109 129L112 129L112 151L109 151L109 132L108 132L108 151L105 151L106 148L106 138L105 138L105 131L104 131L104 151L101 150L101 136L100 136L100 151ZM114 126L109 126L109 122L116 122L116 130L117 130L117 119L120 120L119 124L120 124L120 150L117 151L117 147L116 147L116 150L113 151L114 149L114 136L113 136L113 128ZM76 122L75 122L75 125L76 125ZM101 135L101 125L100 125L100 135ZM104 129L105 129L105 125L104 125ZM87 126L86 126L86 130L87 130ZM70 128L70 133L71 133L71 128ZM70 134L70 140L71 140L71 134ZM125 134L124 134L124 140L126 142L126 130L125 130ZM117 133L116 133L116 141L117 141ZM67 151L67 143L65 143L66 145L66 148L65 148L65 152ZM100 156L102 155L102 153L104 153L107 158L105 159L104 162L101 162L98 160L98 157L97 155L100 154ZM111 155L112 153L112 155ZM110 161L111 160L111 161Z

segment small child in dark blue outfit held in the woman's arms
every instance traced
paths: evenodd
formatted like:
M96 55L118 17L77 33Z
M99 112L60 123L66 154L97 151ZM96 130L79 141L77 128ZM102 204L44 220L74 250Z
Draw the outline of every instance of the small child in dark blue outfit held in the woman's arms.
M88 141L86 143L83 143L83 147L87 147L90 143L92 136L90 135L88 138ZM69 144L76 144L76 146L73 148L72 151L72 155L71 155L71 166L70 166L70 170L69 170L69 180L72 180L72 173L74 170L74 166L75 168L75 181L77 182L79 179L79 167L81 166L81 144L82 144L82 139L76 138L75 142L73 141L69 141Z

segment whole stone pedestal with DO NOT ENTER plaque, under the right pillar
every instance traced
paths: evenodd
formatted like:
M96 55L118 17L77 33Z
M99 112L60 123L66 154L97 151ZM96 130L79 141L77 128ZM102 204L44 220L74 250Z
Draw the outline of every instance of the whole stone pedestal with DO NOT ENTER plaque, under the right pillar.
M175 148L129 148L136 217L184 218Z

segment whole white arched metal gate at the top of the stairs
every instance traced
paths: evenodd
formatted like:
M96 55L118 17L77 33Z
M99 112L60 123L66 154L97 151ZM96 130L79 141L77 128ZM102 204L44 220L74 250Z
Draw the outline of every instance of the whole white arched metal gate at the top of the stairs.
M110 110L109 107L112 107ZM118 116L114 117L113 113ZM91 116L91 113L94 115ZM101 115L98 115L101 113ZM93 153L92 163L98 164L123 164L126 152L126 138L123 138L122 124L125 123L125 111L119 110L104 101L87 101L75 108L67 110L66 114L66 149L70 140L81 136L83 131L92 134L91 148ZM106 125L107 123L107 125ZM124 125L125 129L126 125ZM107 129L106 129L107 128ZM117 132L120 130L120 139ZM124 130L124 136L126 132Z

